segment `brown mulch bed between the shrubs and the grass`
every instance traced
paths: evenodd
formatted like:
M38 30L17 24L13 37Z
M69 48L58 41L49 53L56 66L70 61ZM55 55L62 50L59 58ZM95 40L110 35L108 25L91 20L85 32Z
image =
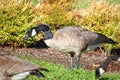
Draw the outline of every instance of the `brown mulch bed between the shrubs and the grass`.
M12 47L1 47L0 55L15 55L15 54L29 54L38 59L49 60L55 64L61 64L65 67L69 67L70 55L62 53L52 48L12 48ZM100 64L102 64L107 58L106 53L103 50L96 49L89 53L83 53L81 55L80 65L82 68L87 70L95 70ZM107 72L120 72L120 63L112 61Z

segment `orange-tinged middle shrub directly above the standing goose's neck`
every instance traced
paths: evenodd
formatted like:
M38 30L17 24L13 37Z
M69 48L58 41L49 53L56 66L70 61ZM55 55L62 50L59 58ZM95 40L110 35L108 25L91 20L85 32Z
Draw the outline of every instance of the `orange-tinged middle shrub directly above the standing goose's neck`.
M73 0L48 0L42 6L37 6L36 13L43 15L41 22L49 24L53 30L65 25L74 25L74 20L70 13L72 2Z

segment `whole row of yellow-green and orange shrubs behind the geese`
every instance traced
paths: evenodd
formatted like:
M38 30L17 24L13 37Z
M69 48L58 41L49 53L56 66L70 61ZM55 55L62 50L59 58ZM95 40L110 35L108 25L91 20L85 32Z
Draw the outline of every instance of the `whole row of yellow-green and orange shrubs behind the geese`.
M103 0L88 1L87 8L76 9L75 0L0 0L0 44L23 46L26 30L47 23L52 32L67 25L79 25L102 33L120 46L120 5ZM75 8L75 9L74 9ZM33 38L33 42L39 38Z

